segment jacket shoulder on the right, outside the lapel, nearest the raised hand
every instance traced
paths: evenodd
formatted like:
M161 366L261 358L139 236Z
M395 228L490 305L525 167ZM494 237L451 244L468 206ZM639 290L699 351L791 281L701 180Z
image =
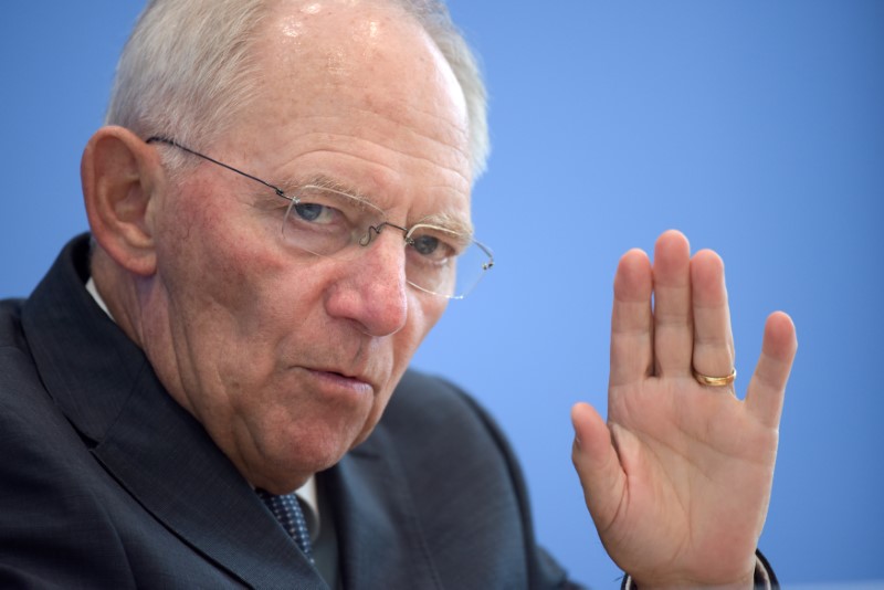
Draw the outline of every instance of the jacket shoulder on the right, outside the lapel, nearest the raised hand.
M440 565L450 552L435 547L441 538L484 556L482 569L494 572L499 586L567 587L565 572L536 545L518 461L475 398L443 378L409 370L379 429L409 474L421 520L435 531L428 542ZM451 567L463 571L472 557L459 555Z

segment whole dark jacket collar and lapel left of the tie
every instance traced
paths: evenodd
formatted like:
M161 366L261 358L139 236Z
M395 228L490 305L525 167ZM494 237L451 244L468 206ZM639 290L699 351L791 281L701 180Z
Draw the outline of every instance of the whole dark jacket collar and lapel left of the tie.
M65 247L24 330L46 389L94 456L173 535L263 588L326 588L201 424L83 287L88 243Z

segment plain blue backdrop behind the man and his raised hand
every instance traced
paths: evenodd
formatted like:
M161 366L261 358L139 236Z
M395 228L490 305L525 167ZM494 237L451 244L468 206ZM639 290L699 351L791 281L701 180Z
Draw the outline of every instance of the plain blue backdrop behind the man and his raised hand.
M0 296L29 293L86 228L80 154L140 4L4 6ZM615 586L570 466L569 408L606 409L619 256L678 228L727 264L738 383L769 312L798 325L761 547L792 586L884 580L884 2L451 10L491 92L474 220L498 264L415 364L509 433L541 541L578 579Z

